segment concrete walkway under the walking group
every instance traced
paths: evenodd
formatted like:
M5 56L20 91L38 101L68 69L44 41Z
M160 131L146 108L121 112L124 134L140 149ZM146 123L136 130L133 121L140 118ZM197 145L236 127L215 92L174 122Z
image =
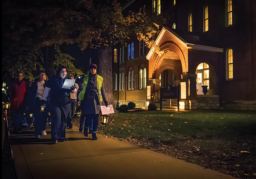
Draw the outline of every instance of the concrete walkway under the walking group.
M10 130L11 130L10 126ZM34 138L34 129L23 134L10 131L18 179L232 179L233 177L164 154L97 134L84 137L74 127L68 141L50 143L47 136ZM234 178L233 178L234 179Z

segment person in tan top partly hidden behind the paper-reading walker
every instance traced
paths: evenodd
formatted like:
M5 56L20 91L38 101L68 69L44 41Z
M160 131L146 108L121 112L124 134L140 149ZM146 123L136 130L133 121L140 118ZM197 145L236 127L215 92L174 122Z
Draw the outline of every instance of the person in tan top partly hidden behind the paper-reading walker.
M68 75L68 79L71 79L71 80L74 80L74 75L72 74L69 74ZM70 113L68 115L68 121L67 121L67 129L73 129L73 125L72 125L72 118L75 114L75 108L76 108L76 101L77 100L77 93L78 93L78 89L79 89L79 86L77 83L75 83L75 86L76 86L76 91L74 93L70 93L70 101L71 101L71 108L70 108Z

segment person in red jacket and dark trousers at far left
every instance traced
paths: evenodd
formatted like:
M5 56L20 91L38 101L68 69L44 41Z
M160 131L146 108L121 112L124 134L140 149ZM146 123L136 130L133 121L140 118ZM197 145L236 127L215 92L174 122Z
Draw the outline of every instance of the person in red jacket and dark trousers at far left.
M26 113L27 111L30 85L23 79L23 72L18 72L17 77L18 78L11 84L10 87L10 110L13 114L14 133L21 134L22 118L23 113Z

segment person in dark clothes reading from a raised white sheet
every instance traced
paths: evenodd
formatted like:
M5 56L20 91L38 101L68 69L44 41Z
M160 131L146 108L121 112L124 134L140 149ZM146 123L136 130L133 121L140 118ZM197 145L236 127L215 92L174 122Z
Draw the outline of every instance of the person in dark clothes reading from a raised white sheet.
M74 93L76 91L75 85L71 86L70 89L62 88L67 77L67 67L60 65L56 71L57 75L49 78L44 88L42 104L46 103L46 98L50 96L50 114L52 116L52 142L55 144L58 141L65 141L65 127L68 115L70 113L71 102L70 102L70 92Z

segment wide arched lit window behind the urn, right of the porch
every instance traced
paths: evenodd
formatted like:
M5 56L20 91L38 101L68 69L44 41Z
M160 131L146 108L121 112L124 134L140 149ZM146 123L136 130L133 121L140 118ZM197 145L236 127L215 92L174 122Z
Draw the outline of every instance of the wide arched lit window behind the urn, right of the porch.
M197 83L202 83L202 85L207 85L207 89L209 89L209 65L207 63L201 63L197 66L196 74L197 74Z

